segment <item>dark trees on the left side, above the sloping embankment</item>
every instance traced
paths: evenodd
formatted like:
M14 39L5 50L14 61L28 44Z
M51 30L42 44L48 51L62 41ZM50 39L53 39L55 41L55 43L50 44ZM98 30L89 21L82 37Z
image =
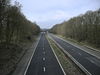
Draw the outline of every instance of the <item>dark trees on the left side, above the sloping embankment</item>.
M0 43L17 43L39 32L39 26L23 15L19 2L11 5L10 0L0 0Z

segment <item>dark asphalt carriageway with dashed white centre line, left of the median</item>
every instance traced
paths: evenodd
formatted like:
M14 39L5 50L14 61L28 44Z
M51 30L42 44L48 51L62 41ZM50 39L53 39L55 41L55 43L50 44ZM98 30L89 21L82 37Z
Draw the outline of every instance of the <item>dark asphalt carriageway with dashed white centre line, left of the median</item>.
M64 75L45 33L41 33L39 43L25 75Z

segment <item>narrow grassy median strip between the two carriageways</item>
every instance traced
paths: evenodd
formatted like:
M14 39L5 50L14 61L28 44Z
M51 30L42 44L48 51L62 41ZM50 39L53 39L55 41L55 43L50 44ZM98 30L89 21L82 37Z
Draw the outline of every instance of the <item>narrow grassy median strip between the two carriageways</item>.
M50 45L54 49L66 75L85 75L50 38L48 38L48 40L50 41Z

